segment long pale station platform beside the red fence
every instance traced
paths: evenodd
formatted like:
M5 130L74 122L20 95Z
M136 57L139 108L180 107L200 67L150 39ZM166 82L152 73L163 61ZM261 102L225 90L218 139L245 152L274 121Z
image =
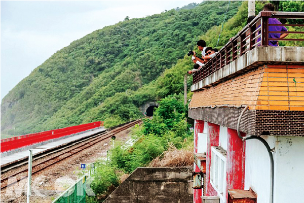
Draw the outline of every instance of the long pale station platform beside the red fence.
M58 139L50 140L50 141L47 141L44 143L38 143L33 146L21 148L21 149L18 149L18 151L10 152L9 154L2 153L1 154L1 166L7 165L8 163L11 163L11 162L17 162L19 160L28 158L29 149L31 149L33 151L33 155L39 154L42 152L46 152L50 149L56 148L60 145L63 145L63 144L69 143L69 142L73 142L73 141L79 140L81 138L90 137L93 134L105 131L106 129L107 128L104 128L104 127L96 127L96 128L90 129L90 130L86 130L84 132L79 132L77 134L70 134L70 135L62 137L62 138L58 138Z

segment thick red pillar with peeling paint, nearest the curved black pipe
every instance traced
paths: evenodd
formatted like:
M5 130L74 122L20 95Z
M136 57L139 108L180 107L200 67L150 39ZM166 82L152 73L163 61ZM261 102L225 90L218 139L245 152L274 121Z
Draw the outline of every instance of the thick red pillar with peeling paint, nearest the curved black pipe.
M242 141L237 130L227 129L227 176L226 189L244 189L245 183L245 142ZM246 136L245 133L241 133ZM226 199L228 192L226 193Z

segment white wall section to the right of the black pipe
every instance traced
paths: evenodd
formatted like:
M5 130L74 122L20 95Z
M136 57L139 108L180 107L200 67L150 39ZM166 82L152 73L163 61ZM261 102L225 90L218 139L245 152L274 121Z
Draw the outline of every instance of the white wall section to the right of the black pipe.
M304 138L277 137L274 202L304 202Z

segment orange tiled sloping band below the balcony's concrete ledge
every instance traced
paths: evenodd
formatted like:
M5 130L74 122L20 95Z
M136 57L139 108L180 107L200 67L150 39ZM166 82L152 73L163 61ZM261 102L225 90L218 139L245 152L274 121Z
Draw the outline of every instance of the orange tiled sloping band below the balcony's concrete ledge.
M194 92L189 108L247 105L250 110L304 111L304 65L268 64Z

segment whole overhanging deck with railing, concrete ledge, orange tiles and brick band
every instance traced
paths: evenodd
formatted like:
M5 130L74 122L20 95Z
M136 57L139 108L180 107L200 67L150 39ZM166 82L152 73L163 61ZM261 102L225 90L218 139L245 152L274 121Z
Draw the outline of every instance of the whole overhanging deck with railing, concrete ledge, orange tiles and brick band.
M270 32L269 18L303 19L304 13L260 12L194 74L189 117L237 129L248 107L239 123L242 132L304 136L304 47L268 45L269 40L304 41L304 31ZM269 33L291 35L269 39Z

